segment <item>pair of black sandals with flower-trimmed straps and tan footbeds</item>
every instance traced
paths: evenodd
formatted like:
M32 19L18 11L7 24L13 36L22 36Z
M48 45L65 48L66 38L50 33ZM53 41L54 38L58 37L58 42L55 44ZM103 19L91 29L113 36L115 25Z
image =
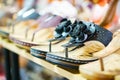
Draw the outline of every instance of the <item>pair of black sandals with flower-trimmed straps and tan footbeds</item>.
M72 24L65 19L56 27L54 37L49 40L48 46L31 47L31 54L78 70L79 65L98 60L91 54L107 46L112 39L112 33L91 22L76 20ZM54 41L57 43L52 44Z

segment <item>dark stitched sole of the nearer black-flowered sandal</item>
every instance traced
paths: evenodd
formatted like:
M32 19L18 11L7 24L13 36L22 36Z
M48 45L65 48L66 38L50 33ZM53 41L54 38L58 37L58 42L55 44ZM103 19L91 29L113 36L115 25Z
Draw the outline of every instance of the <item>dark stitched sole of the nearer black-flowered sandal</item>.
M80 65L86 64L88 62L93 62L93 61L96 61L98 59L74 60L74 59L70 59L70 58L65 58L65 57L60 57L60 56L47 54L46 55L46 60L50 63L57 64L59 66L63 66L63 67L66 67L66 68L78 70Z

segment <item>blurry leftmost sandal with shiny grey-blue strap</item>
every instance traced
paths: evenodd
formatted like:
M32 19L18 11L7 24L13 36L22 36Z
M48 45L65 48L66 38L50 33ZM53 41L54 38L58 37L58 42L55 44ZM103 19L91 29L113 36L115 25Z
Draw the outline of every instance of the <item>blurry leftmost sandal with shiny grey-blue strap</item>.
M28 15L26 15L28 14ZM16 21L13 22L11 26L8 27L0 27L0 34L4 37L8 37L9 33L13 32L15 26L24 26L26 23L31 22L32 20L35 20L40 15L34 10L30 9L29 11L25 12L22 16L19 16ZM24 22L23 22L24 21ZM17 24L18 23L18 24ZM29 23L30 24L30 23ZM13 27L12 27L13 26ZM19 27L18 27L19 28ZM22 29L22 28L21 28ZM18 29L19 30L19 29Z

